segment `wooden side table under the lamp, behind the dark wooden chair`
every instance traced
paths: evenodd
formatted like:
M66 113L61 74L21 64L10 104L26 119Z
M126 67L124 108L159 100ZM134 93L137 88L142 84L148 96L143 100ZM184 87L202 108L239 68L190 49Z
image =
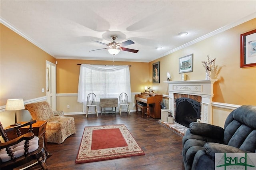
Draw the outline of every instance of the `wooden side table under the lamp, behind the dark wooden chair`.
M47 122L48 121L37 121L36 123L32 124L33 133L35 134L35 136L43 136L44 137L44 146L45 146L45 148L47 148L47 141L46 141L46 137L45 137ZM24 123L27 123L27 122L20 122L20 123L24 124ZM6 128L10 128L10 126L8 126ZM21 127L20 128L21 134L28 133L28 129L29 129L29 125L26 126L26 127ZM17 137L17 133L16 133L15 130L10 131L10 132L7 132L7 136L9 138L9 140L12 140L12 139Z

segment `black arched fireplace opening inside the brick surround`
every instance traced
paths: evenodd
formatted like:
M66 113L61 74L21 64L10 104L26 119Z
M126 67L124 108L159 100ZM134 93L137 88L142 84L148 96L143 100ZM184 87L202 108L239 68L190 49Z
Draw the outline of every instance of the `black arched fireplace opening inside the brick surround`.
M176 99L175 121L189 128L189 124L200 119L201 105L198 101L182 97Z

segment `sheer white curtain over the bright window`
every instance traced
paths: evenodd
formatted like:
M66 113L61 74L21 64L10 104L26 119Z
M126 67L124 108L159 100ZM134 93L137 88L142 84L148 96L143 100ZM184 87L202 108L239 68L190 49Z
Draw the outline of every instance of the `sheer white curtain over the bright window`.
M89 93L100 98L118 98L120 93L128 95L132 101L130 70L128 65L81 64L78 83L78 102L84 103ZM119 102L119 101L118 101Z

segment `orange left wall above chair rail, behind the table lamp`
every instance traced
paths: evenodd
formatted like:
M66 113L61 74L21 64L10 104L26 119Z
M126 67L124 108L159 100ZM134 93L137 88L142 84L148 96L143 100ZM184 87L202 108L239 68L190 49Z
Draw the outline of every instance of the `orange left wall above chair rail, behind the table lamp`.
M0 105L46 96L46 60L54 63L55 58L3 24L0 35Z

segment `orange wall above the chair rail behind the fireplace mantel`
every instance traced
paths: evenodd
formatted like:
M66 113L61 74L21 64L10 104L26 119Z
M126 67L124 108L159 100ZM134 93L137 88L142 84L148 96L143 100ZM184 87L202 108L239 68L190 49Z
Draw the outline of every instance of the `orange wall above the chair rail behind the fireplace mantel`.
M212 79L214 83L213 101L234 105L256 105L256 67L240 68L240 34L256 29L256 18L226 30L220 34L190 45L149 63L149 80L152 82L152 63L160 61L160 83L151 84L152 89L168 94L166 73L172 81L181 80L179 58L194 54L193 72L187 73L188 80L205 79L205 69L201 61L216 58Z

